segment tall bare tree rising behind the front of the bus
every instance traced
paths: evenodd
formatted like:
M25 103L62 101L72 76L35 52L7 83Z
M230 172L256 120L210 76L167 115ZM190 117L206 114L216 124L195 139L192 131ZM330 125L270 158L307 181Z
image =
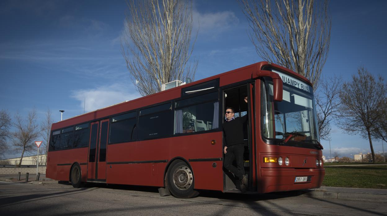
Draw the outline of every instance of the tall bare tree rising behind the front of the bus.
M327 59L328 1L240 0L258 55L307 77L317 88Z

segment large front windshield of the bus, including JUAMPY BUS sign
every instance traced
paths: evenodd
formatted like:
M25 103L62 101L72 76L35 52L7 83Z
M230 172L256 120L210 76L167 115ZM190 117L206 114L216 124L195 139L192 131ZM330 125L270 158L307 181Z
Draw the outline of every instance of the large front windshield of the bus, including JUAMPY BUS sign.
M272 70L274 71L274 70ZM264 78L262 85L262 134L275 139L272 144L316 146L319 140L313 88L294 77L274 71L283 80L283 100L273 100L273 84ZM288 138L288 139L287 139Z

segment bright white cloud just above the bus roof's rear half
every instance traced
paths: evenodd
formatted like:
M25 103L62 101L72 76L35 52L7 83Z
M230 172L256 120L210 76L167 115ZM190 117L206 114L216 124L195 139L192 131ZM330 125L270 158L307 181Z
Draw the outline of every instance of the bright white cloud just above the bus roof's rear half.
M92 89L74 90L71 97L79 100L79 106L82 109L85 107L85 111L90 112L125 100L133 100L141 95L134 90L133 85L113 84ZM84 103L85 99L86 104Z

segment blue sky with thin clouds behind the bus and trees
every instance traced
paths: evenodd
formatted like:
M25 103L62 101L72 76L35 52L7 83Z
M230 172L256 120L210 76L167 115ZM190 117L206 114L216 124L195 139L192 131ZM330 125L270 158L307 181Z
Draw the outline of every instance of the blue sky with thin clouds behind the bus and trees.
M124 0L0 1L0 109L14 115L36 107L43 119L49 108L59 121L61 109L64 119L82 114L85 98L87 112L139 97L120 51L126 7ZM193 7L195 28L200 23L195 80L262 61L238 3L194 0ZM387 1L330 1L325 77L349 80L361 65L386 77L386 10ZM382 151L381 142L373 144ZM322 145L329 156L328 142ZM370 152L368 140L336 126L331 148L341 156Z

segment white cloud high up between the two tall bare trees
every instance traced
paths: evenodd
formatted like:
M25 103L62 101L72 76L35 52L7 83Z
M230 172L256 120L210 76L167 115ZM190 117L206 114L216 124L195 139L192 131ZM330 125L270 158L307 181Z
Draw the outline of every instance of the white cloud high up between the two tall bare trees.
M239 24L238 17L231 11L200 14L197 10L193 10L192 16L194 29L199 27L199 33L219 34Z

